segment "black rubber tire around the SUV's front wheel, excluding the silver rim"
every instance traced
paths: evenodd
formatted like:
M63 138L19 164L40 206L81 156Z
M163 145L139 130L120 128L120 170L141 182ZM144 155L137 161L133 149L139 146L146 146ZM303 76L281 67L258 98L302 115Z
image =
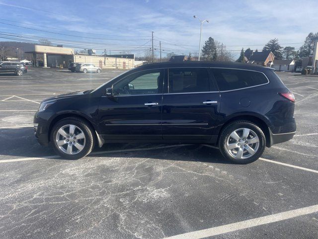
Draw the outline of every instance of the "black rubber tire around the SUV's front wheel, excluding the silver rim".
M85 135L84 147L81 149L81 151L79 153L76 153L76 154L65 153L57 145L56 137L57 137L58 130L61 127L63 127L64 125L68 125L68 124L73 124L73 125L77 126ZM79 119L79 118L73 118L73 117L72 118L66 118L66 119L62 119L62 120L58 121L53 126L53 128L51 130L50 141L51 141L51 144L52 144L54 150L56 151L56 153L58 153L62 158L73 159L73 160L74 159L79 159L79 158L82 158L82 157L86 156L93 149L93 147L94 147L93 132L94 132L94 130L91 128L91 126L85 120L82 120L82 119ZM66 143L66 145L68 146L68 143Z

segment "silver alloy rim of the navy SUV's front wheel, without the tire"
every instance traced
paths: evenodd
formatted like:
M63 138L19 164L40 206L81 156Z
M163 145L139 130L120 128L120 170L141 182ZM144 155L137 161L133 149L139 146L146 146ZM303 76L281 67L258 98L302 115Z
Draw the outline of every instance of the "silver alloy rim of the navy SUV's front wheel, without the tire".
M62 126L57 131L55 140L60 150L67 154L77 154L85 146L85 134L73 124Z

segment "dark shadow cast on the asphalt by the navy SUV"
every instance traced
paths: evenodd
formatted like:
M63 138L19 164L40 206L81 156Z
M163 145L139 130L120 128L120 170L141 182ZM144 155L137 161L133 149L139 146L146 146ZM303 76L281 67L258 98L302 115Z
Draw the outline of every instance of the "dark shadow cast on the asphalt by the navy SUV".
M52 147L39 145L33 127L0 128L0 159L57 155ZM107 143L95 147L85 158L154 158L174 161L199 161L233 164L217 148L200 144ZM60 157L53 157L62 159ZM79 159L80 160L80 159Z

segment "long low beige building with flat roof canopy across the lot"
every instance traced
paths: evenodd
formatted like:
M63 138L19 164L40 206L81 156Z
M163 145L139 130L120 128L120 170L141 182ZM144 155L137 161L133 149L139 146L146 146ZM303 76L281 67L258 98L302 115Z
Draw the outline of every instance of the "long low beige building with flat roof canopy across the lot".
M34 45L34 51L26 52L33 54L33 62L37 55L43 55L44 67L68 67L71 62L92 63L103 69L132 69L135 65L135 57L124 58L112 56L97 56L88 54L75 54L74 49L56 46Z

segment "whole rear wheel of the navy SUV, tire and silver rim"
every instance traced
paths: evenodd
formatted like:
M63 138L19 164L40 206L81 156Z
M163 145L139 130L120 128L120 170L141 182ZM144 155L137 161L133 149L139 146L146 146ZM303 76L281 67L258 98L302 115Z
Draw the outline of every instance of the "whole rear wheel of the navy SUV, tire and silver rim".
M224 157L239 164L257 160L266 146L266 138L256 124L250 121L234 121L221 132L219 148Z

